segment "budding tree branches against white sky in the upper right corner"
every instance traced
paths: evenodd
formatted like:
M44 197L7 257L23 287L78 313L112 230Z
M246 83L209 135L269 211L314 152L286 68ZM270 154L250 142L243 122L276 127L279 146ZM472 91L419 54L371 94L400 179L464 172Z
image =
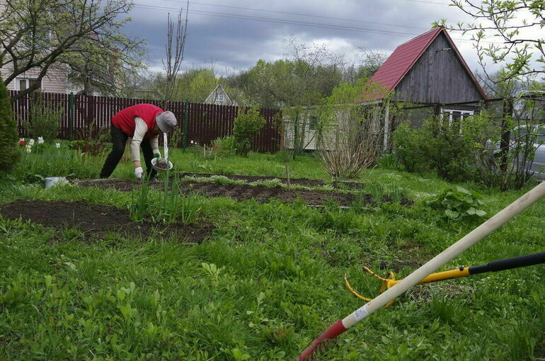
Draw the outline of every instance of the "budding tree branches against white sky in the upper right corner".
M450 28L472 34L485 74L486 61L490 59L494 64L505 64L500 81L525 74L545 76L545 1L483 0L479 4L470 0L451 1L475 20ZM439 23L445 23L444 19L435 25ZM532 35L527 35L529 30ZM492 36L487 38L487 35Z

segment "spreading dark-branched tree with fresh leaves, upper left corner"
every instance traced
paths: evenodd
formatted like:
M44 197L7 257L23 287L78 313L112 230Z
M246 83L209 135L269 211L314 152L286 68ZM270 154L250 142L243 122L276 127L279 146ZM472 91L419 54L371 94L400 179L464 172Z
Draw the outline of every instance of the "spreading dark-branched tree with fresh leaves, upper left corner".
M0 67L9 69L4 84L25 71L38 70L38 81L13 100L38 89L54 64L67 62L77 70L77 64L102 53L103 59L97 62L102 66L103 61L110 62L116 49L140 43L120 35L122 26L130 21L123 18L132 7L127 0L6 0L5 4L0 14ZM78 51L82 54L75 56ZM117 57L123 59L123 55Z

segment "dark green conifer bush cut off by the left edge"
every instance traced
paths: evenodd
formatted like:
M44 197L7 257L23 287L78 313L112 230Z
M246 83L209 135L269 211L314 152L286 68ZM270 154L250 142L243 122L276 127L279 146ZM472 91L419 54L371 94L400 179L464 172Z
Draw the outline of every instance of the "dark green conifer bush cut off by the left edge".
M20 157L17 149L17 122L11 113L9 93L0 77L0 173L11 171Z

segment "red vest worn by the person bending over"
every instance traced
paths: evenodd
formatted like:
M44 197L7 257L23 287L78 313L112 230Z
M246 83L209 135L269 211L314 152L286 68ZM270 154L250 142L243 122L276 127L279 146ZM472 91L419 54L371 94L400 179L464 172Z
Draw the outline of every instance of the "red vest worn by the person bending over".
M156 133L153 132L153 129L155 127L155 116L159 113L163 113L163 110L153 104L144 103L132 105L115 113L112 118L112 124L115 127L120 128L120 130L129 137L132 137L134 136L134 129L136 128L134 118L140 117L148 126L148 131L146 135L144 135L144 138L151 138L156 135Z

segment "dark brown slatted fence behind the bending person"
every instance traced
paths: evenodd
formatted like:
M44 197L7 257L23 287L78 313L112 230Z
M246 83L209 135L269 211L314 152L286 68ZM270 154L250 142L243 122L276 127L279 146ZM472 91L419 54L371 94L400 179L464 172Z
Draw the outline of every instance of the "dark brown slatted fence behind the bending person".
M10 91L14 96L17 91ZM28 110L37 101L34 97L42 97L44 101L64 109L59 139L69 139L69 94L64 93L34 93L12 103L14 116L18 120L18 131L21 137L28 137L23 122L31 121ZM159 105L159 101L134 98L113 98L108 96L74 95L73 105L73 135L74 139L84 139L96 134L98 130L108 129L110 120L115 113L130 105L151 103ZM234 119L239 113L239 107L229 105L213 105L200 103L169 102L166 110L170 110L178 120L178 127L187 129L186 143L211 144L214 139L232 134ZM185 109L187 108L187 114ZM265 127L253 138L252 149L260 152L274 153L280 149L280 130L277 119L280 110L262 109L261 115L267 120ZM184 124L185 123L185 124ZM180 139L178 147L182 147Z

